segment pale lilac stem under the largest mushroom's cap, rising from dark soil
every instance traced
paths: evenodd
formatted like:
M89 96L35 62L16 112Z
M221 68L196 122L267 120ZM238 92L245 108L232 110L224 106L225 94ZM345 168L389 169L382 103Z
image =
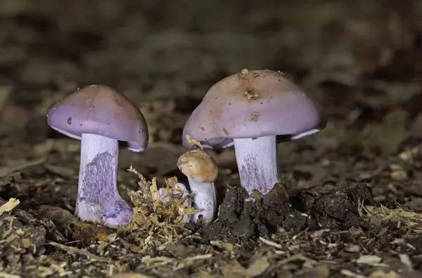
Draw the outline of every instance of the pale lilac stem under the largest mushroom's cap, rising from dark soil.
M257 190L266 195L280 182L276 136L234 139L234 149L241 186L248 194Z

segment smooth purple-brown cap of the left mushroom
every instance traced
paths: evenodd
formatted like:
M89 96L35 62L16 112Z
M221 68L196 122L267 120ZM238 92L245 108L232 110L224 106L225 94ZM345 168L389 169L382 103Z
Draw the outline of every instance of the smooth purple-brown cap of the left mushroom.
M148 127L141 110L105 85L83 87L66 96L50 108L47 122L74 139L88 133L119 140L120 147L130 151L148 146Z

